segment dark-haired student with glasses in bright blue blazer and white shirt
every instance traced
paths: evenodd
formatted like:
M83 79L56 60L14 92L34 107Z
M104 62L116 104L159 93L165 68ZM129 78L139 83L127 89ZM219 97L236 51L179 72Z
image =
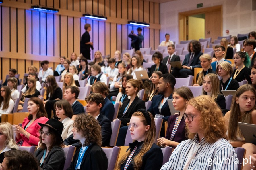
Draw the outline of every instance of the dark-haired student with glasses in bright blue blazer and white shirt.
M224 46L216 45L216 46L214 47L214 54L215 54L215 56L216 56L216 58L217 58L217 61L212 62L211 65L212 65L212 70L213 70L213 71L216 71L216 73L218 73L218 70L216 70L216 67L217 67L218 64L222 63L223 61L227 61L228 63L231 64L230 61L228 61L228 60L226 60L226 59L224 58L224 56L225 56L225 50L226 50L226 49L225 49Z

